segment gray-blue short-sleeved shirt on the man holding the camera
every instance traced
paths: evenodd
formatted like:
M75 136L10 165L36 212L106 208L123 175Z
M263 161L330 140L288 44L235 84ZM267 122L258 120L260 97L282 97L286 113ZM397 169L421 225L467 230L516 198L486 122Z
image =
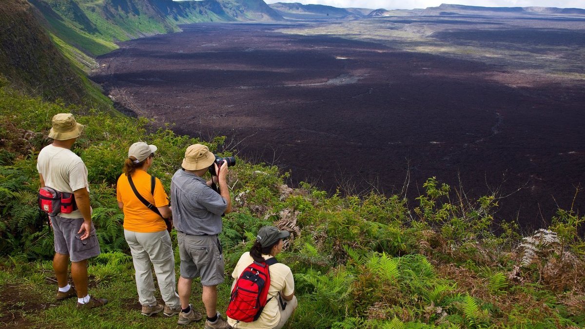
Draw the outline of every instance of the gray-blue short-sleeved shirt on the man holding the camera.
M177 231L191 235L221 233L221 215L228 203L202 177L177 170L171 179L171 205Z

